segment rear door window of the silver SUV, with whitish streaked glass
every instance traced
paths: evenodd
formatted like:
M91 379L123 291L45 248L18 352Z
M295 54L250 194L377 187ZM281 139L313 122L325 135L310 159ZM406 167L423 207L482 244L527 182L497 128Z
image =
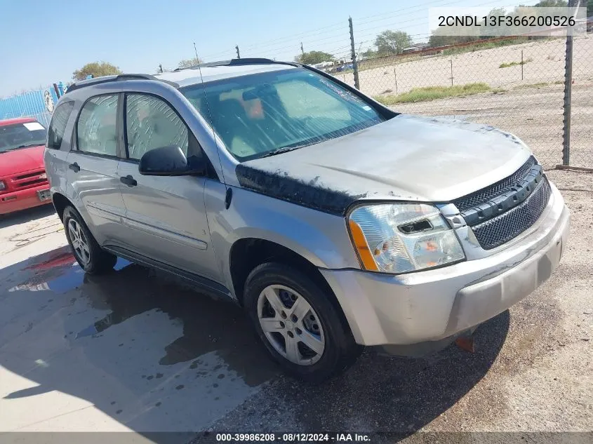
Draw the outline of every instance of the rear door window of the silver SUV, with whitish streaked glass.
M84 104L76 124L79 151L116 156L117 100L116 94L100 95Z

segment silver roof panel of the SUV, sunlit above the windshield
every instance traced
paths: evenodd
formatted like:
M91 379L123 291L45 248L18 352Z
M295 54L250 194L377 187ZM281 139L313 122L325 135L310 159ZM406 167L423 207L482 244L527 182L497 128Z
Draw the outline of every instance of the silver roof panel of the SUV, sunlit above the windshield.
M208 64L198 67L191 67L187 69L180 69L179 71L164 72L163 74L156 74L156 78L165 81L178 83L180 87L194 85L195 83L215 81L220 79L230 79L232 77L244 76L246 74L257 74L260 72L281 71L283 69L295 69L293 65L284 65L281 63L258 63L253 65L215 65L208 66ZM201 71L201 76L200 76Z

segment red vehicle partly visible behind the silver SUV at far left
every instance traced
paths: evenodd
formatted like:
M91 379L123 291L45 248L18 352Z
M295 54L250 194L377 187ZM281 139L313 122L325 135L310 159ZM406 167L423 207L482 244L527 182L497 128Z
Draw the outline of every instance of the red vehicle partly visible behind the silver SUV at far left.
M44 167L46 134L35 119L0 121L0 215L51 203Z

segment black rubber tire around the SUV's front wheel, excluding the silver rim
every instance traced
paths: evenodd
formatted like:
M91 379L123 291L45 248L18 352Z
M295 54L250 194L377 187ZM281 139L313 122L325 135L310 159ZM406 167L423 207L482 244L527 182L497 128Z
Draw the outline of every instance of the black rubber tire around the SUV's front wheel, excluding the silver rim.
M325 349L317 363L298 365L288 361L274 349L265 336L258 316L258 298L264 288L274 284L285 285L298 292L302 297L305 297L305 300L319 316L321 327L324 330ZM268 262L253 269L246 281L244 305L258 337L272 354L274 360L298 379L321 382L331 377L335 372L342 370L342 361L345 361L349 350L355 345L352 335L345 331L340 316L328 295L305 274L291 267Z

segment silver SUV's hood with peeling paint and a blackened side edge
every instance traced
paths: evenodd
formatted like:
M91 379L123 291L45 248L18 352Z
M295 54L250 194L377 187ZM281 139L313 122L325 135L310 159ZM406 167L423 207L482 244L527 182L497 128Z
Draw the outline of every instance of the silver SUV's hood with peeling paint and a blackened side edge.
M241 163L236 173L242 187L342 213L340 207L359 199L451 201L511 175L530 155L521 140L493 126L399 114L357 133ZM338 202L323 208L307 203L311 196Z

